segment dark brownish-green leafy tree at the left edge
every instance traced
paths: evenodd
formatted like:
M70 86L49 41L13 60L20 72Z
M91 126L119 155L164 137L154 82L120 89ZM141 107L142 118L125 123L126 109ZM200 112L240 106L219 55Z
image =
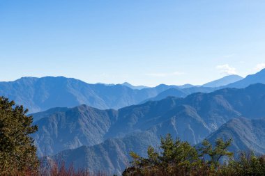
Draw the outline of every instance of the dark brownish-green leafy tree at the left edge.
M32 116L27 116L23 106L0 97L0 173L36 170L38 157L33 138L29 135L38 130Z

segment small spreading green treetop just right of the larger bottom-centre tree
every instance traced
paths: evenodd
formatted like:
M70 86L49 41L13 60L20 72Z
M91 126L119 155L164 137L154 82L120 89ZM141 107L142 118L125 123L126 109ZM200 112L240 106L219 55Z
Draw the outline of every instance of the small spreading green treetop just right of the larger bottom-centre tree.
M218 138L215 141L215 145L211 145L211 143L207 140L202 142L202 147L199 147L199 151L201 152L201 156L209 156L211 165L214 168L217 168L219 165L219 160L221 157L229 157L233 156L233 152L228 151L228 147L231 145L232 139L230 138L228 141L223 141L222 138Z

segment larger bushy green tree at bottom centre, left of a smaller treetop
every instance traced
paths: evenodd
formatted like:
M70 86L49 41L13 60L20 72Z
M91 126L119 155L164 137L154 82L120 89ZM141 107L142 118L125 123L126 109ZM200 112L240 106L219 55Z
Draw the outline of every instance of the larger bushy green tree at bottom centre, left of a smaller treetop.
M160 152L158 152L160 151ZM147 158L131 152L132 167L123 175L188 175L201 160L195 147L179 138L174 141L170 134L161 138L160 149L149 147Z

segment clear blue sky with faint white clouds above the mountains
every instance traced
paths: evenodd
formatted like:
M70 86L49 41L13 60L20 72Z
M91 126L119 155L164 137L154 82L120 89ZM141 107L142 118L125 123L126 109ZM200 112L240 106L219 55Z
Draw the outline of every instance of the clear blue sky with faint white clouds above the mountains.
M0 1L0 81L201 84L265 67L264 0Z

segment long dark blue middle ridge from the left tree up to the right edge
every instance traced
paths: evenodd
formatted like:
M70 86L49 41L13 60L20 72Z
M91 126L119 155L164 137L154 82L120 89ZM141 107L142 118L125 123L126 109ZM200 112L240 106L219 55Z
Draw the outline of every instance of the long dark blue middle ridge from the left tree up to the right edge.
M151 129L156 136L170 132L183 141L196 144L232 118L261 118L265 115L264 104L265 85L255 84L243 89L194 93L185 98L167 97L118 111L82 105L56 113L37 113L40 120L34 124L39 126L39 131L33 137L39 154L45 150L47 154L54 154L68 147L96 145L108 138L122 138ZM65 139L66 134L74 133ZM52 141L61 143L55 146Z

